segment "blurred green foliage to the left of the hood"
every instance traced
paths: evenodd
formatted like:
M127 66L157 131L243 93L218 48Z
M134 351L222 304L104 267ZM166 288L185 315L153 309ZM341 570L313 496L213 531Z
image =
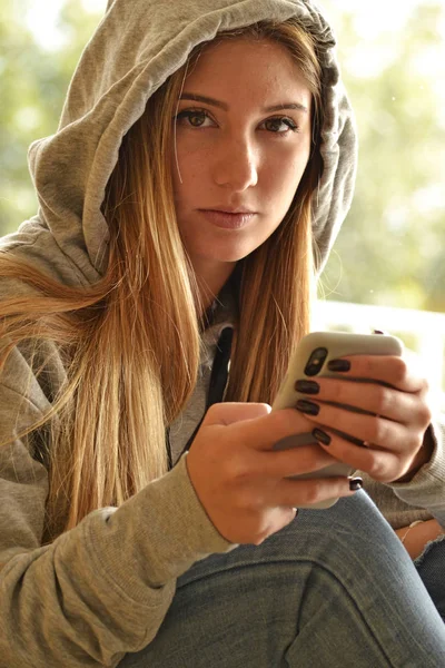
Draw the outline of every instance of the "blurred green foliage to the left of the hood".
M52 52L24 24L27 10L27 0L0 3L0 235L37 212L28 148L57 130L77 61L99 22L79 0L66 0L60 29L67 45Z

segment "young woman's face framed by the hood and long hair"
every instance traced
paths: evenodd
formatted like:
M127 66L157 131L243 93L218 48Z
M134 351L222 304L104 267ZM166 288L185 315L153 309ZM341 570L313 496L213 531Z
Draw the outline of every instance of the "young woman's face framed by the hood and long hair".
M175 203L194 268L209 284L286 215L309 158L310 105L291 56L268 40L214 42L187 77L171 156Z

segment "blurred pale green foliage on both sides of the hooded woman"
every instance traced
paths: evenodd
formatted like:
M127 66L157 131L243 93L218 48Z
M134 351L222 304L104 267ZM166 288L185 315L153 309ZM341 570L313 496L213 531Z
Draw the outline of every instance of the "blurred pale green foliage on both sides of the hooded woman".
M445 63L437 28L444 4L418 6L402 31L388 28L365 45L378 62L382 52L390 52L377 72L357 66L364 39L354 16L339 12L335 0L323 4L336 27L360 137L356 195L324 273L323 294L445 312L445 119L437 94L437 71L445 79L445 66L417 67L423 56ZM52 52L22 20L27 0L0 4L0 234L37 210L28 147L56 131L79 56L101 18L86 12L80 0L61 6L67 43Z

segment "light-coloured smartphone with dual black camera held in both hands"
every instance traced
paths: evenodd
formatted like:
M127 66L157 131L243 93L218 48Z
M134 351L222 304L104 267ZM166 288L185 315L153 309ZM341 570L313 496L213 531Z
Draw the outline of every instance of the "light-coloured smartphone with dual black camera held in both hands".
M404 351L404 345L396 336L386 334L349 334L346 332L313 332L307 334L299 342L291 360L287 374L281 383L278 394L271 405L273 411L279 409L294 407L299 399L310 399L306 394L301 394L295 390L295 383L298 380L317 380L317 377L342 377L340 373L328 370L330 360L337 360L346 355L397 355L400 356ZM343 376L345 377L345 376ZM352 379L350 382L366 382L366 379ZM359 391L359 387L357 387ZM366 412L353 406L345 406L353 412ZM362 442L343 432L330 430L343 438L362 445ZM317 440L310 432L288 436L278 441L274 449L286 450L288 448L297 448L298 445L307 445L317 443ZM334 478L338 475L352 475L354 469L338 462L301 475L293 475L295 479L304 478ZM320 503L312 505L300 505L299 508L324 509L330 508L338 499L327 499Z

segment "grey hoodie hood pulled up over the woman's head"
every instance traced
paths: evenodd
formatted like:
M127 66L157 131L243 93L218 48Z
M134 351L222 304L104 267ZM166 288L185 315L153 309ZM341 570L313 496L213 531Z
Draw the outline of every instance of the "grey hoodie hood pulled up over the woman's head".
M297 17L322 59L324 171L314 194L322 266L350 206L357 158L354 116L339 80L335 39L310 0L109 0L69 86L59 128L29 149L39 212L3 247L71 285L96 283L107 265L100 207L122 137L190 51L218 32Z

